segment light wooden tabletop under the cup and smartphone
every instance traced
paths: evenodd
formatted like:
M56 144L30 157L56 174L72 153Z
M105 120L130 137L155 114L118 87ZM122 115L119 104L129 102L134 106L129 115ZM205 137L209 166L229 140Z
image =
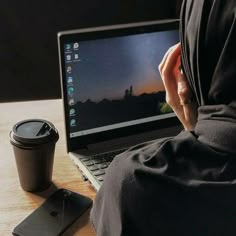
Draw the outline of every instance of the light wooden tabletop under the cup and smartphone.
M66 153L63 109L61 100L46 100L17 103L0 103L0 235L9 236L13 228L36 209L50 194L51 187L40 194L21 189L15 165L14 153L9 142L9 131L23 119L40 118L51 121L59 130L56 144L53 182L58 188L66 188L94 199L96 192L84 182L77 167ZM78 219L64 234L95 235L89 222L89 211Z

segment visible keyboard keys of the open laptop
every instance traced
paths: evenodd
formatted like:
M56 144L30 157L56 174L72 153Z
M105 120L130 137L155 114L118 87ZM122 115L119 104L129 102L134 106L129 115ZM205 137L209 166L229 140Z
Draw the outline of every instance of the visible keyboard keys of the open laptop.
M106 169L114 159L114 157L124 151L127 148L115 150L112 152L97 154L90 157L82 157L80 160L91 172L91 174L99 181L103 182L104 175L106 174Z

